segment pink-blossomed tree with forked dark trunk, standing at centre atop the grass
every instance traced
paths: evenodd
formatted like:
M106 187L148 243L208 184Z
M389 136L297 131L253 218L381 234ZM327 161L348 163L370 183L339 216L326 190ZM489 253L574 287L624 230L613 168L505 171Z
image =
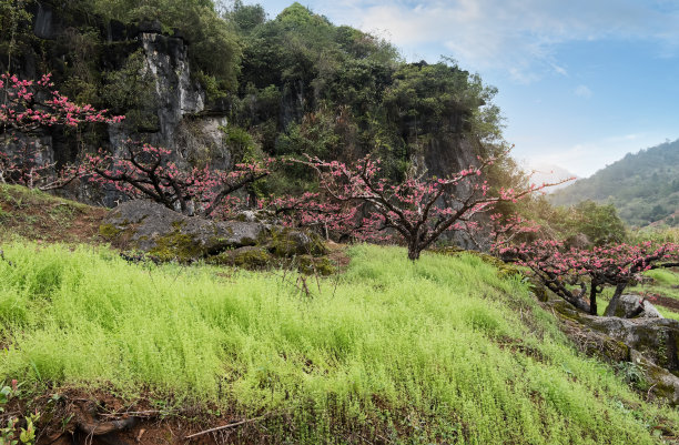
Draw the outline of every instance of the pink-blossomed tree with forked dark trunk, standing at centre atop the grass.
M416 259L444 232L476 230L472 221L476 214L499 202L516 202L553 185L491 193L488 182L479 176L496 160L496 156L479 156L477 165L446 178L409 176L401 183L391 183L382 175L379 161L371 156L353 165L318 158L298 162L316 171L325 195L332 201L362 206L361 212L366 216L357 225L356 236L372 240L396 236L408 245L411 257Z

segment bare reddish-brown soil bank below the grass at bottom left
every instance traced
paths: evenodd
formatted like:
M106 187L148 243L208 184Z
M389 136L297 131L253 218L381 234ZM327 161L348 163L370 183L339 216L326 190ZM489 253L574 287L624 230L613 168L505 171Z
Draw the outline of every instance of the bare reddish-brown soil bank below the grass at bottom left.
M153 406L142 398L134 403L102 391L65 390L31 400L30 407L18 398L0 415L23 418L41 413L37 423L38 445L112 444L266 444L271 438L257 424L267 416L243 419L234 414L216 415L210 407L181 411ZM6 424L6 422L3 422ZM17 424L22 427L23 421ZM273 441L275 442L275 441Z

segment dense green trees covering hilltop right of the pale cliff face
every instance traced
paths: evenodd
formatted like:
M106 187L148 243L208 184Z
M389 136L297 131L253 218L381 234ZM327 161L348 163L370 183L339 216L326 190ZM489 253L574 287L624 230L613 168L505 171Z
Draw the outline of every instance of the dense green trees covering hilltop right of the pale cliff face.
M399 180L414 165L424 170L418 160L426 152L446 148L432 158L436 162L426 161L429 174L445 175L462 168L448 150L468 142L477 154L488 154L482 152L495 148L482 144L501 144L499 110L491 102L496 90L454 61L404 63L389 43L334 26L300 3L270 21L257 11L236 4L227 14L256 18L242 27L232 121L266 153L343 161L372 153L388 176ZM283 190L288 192L311 179L300 169L286 170L291 188Z

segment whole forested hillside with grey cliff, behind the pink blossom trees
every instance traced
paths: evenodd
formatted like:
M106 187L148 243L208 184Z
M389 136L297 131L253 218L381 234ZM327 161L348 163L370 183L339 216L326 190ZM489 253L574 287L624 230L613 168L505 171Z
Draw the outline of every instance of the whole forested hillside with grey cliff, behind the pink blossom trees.
M440 176L501 142L495 89L478 75L452 60L406 63L391 43L300 3L272 19L261 6L204 0L9 0L0 13L0 70L52 72L62 93L126 117L79 143L49 134L48 159L132 139L186 166L373 153L394 178ZM287 169L252 192L310 186Z

